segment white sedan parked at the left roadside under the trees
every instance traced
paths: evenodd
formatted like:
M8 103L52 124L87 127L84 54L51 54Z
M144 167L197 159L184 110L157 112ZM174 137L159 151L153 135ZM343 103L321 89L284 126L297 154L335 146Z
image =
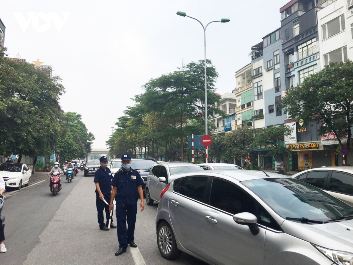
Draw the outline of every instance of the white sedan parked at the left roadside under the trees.
M4 178L6 187L20 189L28 186L31 180L31 171L26 164L5 162L0 164L0 174Z

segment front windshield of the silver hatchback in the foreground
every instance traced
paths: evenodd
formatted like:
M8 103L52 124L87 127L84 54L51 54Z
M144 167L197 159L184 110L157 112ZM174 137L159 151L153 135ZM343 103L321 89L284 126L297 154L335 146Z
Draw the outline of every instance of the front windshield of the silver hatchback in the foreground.
M286 219L329 221L353 214L353 207L305 182L292 178L242 181L269 207Z

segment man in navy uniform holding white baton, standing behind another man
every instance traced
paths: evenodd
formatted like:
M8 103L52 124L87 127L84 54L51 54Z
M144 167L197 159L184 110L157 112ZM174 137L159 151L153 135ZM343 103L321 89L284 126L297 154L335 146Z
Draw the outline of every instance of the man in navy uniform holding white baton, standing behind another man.
M96 206L97 206L97 217L98 217L98 224L99 224L99 229L107 231L108 229L108 223L109 223L109 205L107 205L104 201L106 200L107 202L110 201L110 193L112 190L111 182L112 182L112 173L110 172L110 169L108 169L108 158L104 155L104 157L101 157L99 159L99 162L101 164L100 168L96 171L94 174L94 182L96 183ZM114 196L113 196L114 200ZM106 211L106 220L107 223L104 223L104 216L103 216L103 210ZM113 210L113 209L112 209ZM113 218L110 223L110 228L116 228L115 225L113 225Z

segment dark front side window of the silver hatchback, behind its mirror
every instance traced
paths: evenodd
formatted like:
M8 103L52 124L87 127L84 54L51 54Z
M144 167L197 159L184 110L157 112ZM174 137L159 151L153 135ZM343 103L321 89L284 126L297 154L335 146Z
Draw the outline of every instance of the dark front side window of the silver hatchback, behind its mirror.
M247 193L233 183L217 178L212 180L210 205L230 214L256 214L255 202Z

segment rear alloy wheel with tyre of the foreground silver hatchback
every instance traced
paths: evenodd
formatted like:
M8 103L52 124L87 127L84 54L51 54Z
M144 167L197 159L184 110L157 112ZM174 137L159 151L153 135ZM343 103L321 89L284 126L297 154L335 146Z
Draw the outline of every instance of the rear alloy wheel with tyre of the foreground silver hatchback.
M157 231L157 244L162 257L169 260L178 258L181 251L177 247L177 242L169 224L162 222Z

